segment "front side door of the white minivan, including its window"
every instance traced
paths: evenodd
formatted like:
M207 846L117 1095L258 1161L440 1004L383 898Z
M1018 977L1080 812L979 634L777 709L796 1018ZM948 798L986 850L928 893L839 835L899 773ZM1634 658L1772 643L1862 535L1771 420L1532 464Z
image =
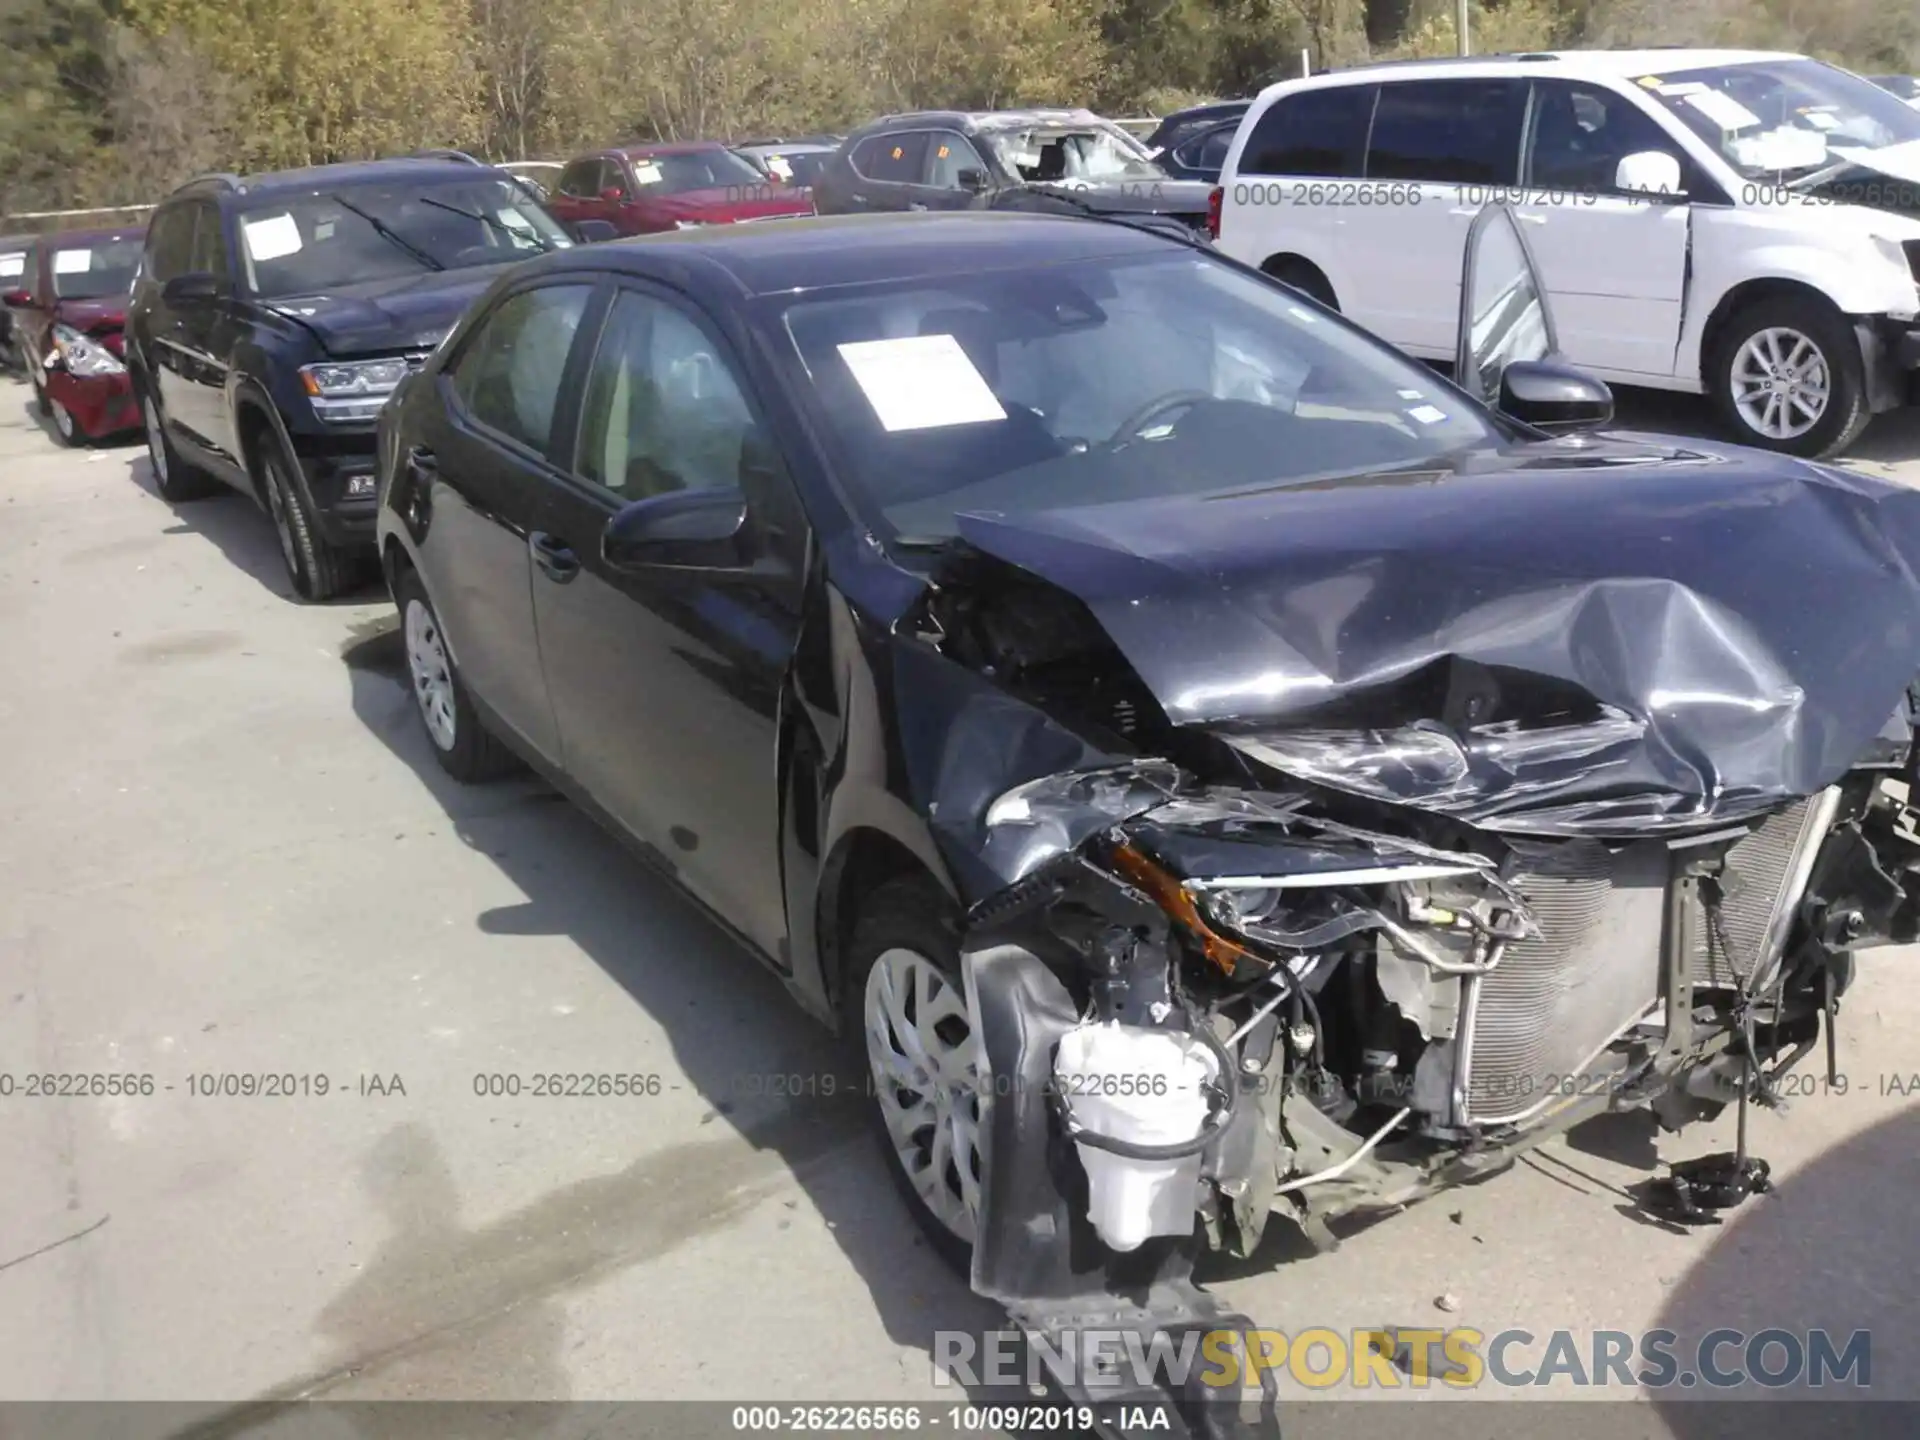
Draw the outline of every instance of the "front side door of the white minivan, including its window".
M1688 177L1695 167L1686 150L1628 96L1582 81L1534 81L1515 211L1528 223L1567 359L1617 376L1672 374L1680 348L1688 202L1615 184L1619 163L1649 150L1672 156L1682 188L1705 200L1711 180Z

